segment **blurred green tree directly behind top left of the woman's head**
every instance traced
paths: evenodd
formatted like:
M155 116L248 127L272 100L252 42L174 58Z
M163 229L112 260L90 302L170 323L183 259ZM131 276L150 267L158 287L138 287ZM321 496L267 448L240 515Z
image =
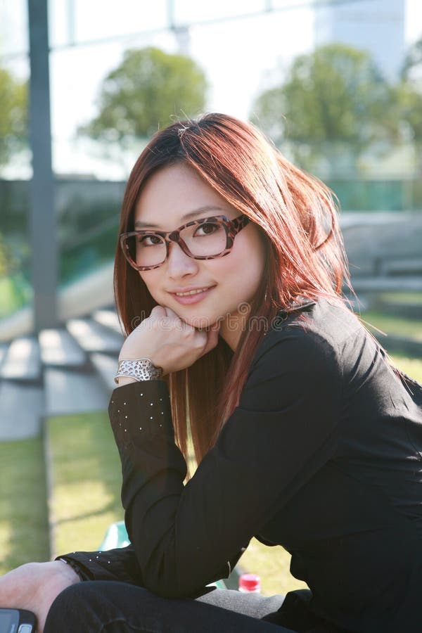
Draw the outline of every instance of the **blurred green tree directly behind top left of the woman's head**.
M104 141L150 136L172 115L196 115L205 107L207 81L191 59L148 47L129 50L103 80L99 114L79 129Z

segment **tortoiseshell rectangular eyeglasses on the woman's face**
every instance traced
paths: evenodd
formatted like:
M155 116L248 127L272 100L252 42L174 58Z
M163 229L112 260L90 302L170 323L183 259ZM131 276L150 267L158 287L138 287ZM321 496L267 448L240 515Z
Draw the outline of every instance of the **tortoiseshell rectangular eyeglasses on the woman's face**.
M225 215L204 217L182 224L174 231L131 231L122 233L120 246L124 257L136 270L158 268L169 256L169 244L179 244L194 260L214 260L228 255L234 238L250 219L243 213L230 220Z

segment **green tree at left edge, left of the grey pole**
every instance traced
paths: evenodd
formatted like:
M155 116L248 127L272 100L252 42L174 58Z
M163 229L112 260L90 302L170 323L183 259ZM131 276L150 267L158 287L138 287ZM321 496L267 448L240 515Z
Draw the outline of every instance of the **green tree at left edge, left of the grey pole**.
M27 140L27 83L0 68L0 165Z

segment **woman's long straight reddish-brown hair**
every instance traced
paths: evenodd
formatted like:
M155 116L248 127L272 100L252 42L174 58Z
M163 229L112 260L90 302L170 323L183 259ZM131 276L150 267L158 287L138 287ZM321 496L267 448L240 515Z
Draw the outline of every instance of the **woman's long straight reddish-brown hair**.
M187 457L191 435L199 463L238 404L264 335L259 324L271 324L299 296L341 302L349 276L338 210L328 187L286 160L255 126L219 113L174 123L153 136L130 174L119 233L134 230L134 209L147 179L176 162L191 167L229 205L248 215L267 252L262 283L236 351L220 337L191 367L166 376L176 440ZM128 335L156 302L119 244L114 287L117 313Z

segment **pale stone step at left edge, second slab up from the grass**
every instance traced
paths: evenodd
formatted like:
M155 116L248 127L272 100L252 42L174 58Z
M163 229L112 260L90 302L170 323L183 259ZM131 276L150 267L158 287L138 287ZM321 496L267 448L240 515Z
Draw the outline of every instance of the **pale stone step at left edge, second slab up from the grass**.
M34 381L40 374L41 362L37 339L33 336L23 336L13 340L0 368L0 377L8 380Z

